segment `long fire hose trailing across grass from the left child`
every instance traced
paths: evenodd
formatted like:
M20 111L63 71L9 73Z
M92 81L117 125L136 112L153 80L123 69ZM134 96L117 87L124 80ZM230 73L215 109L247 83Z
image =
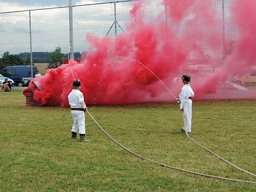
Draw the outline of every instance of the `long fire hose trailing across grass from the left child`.
M186 169L181 169L181 168L176 168L176 167L172 167L166 164L162 164L161 162L155 161L155 160L151 160L148 159L146 157L140 156L135 152L132 152L131 150L127 149L126 147L122 146L119 142L117 142L115 139L113 139L101 126L100 124L92 117L92 115L90 114L90 112L88 110L86 110L87 113L89 114L89 116L91 117L91 119L97 124L97 126L101 129L101 131L103 131L103 133L105 133L105 135L107 135L113 142L115 142L119 147L121 147L122 149L126 150L127 152L131 153L132 155L143 159L143 160L147 160L149 162L153 162L154 164L163 166L163 167L167 167L167 168L172 168L175 170L179 170L179 171L183 171L183 172L188 172L189 174L193 174L193 175L200 175L200 176L204 176L204 177L209 177L209 178L215 178L215 179L221 179L221 180L229 180L229 181L234 181L234 182L240 182L240 183L250 183L250 184L256 184L256 181L246 181L246 180L238 180L238 179L231 179L231 178L225 178L225 177L218 177L218 176L213 176L213 175L207 175L207 174L202 174L200 172L194 172L194 171L189 171ZM187 133L186 133L187 135ZM187 135L188 136L188 135ZM188 136L189 137L189 136ZM254 175L254 174L252 174ZM254 175L255 176L255 175Z

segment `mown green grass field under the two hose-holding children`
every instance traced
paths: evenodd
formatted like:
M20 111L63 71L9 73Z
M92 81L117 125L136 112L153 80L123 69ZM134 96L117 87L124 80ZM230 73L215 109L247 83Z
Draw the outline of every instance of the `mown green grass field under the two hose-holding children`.
M0 92L0 191L255 191L255 184L188 174L141 160L111 141L86 113L87 139L71 140L68 108L25 107ZM191 138L256 174L256 100L194 101ZM111 137L139 155L203 174L256 181L189 140L178 105L90 107Z

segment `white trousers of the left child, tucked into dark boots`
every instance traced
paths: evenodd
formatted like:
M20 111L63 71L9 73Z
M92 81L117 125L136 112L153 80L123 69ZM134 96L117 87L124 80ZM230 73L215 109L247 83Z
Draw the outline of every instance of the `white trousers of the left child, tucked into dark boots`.
M71 131L78 132L79 130L79 134L86 134L86 122L84 121L84 112L71 110L71 114L74 121Z

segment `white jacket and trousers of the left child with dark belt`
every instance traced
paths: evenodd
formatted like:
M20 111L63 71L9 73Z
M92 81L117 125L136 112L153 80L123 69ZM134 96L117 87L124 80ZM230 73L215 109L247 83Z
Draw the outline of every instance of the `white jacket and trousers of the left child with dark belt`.
M84 103L83 93L78 89L72 89L68 96L69 104L71 108L85 109L86 103ZM84 122L84 111L71 110L74 124L72 126L72 132L78 132L79 134L86 134L86 123Z

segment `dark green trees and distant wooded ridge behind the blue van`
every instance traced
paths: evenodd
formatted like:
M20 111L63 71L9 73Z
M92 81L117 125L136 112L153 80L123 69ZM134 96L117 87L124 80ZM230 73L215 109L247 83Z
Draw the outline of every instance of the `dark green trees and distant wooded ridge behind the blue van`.
M61 48L56 47L53 52L32 52L32 63L49 63L48 69L57 68L62 64L63 59L68 59L69 55L61 53ZM81 58L80 52L74 53L75 59ZM4 69L6 66L13 65L30 65L30 53L24 52L19 54L10 54L10 52L5 52L0 58L0 70Z

